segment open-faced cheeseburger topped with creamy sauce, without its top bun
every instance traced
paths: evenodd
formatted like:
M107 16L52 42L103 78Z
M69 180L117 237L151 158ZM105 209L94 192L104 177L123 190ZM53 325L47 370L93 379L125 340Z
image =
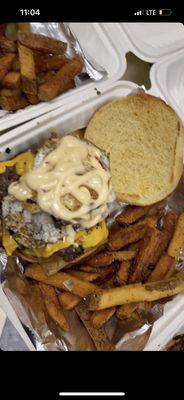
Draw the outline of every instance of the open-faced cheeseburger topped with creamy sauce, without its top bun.
M101 245L115 199L109 161L91 143L51 137L36 153L0 163L4 179L2 243L8 255L48 262L59 269Z

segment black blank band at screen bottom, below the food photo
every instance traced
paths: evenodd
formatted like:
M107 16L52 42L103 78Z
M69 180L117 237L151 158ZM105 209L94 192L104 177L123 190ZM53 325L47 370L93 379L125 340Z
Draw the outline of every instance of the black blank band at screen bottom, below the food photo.
M182 399L182 361L182 352L1 352L6 394L1 398L54 400L62 399L61 391L123 391L125 400Z

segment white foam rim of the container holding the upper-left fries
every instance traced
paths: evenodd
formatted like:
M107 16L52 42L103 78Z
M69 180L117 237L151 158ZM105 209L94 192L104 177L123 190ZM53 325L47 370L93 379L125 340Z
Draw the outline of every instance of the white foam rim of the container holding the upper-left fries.
M27 122L58 107L62 107L63 110L67 109L73 101L80 102L84 96L93 97L95 95L95 87L101 90L101 88L108 86L109 83L121 78L126 70L126 59L120 56L101 24L70 23L70 27L79 39L83 52L94 63L96 62L107 71L107 77L101 81L90 82L71 89L49 102L29 105L23 110L16 112L7 112L0 118L0 132ZM0 116L1 114L4 114L2 110L0 110Z

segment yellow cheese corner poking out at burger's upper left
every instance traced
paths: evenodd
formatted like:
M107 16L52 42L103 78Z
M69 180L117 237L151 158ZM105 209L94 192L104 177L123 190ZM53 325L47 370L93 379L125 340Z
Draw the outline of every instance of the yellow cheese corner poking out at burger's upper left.
M13 167L15 165L16 173L22 176L32 168L33 161L34 155L32 151L28 150L12 160L0 162L0 174L6 171L6 167Z

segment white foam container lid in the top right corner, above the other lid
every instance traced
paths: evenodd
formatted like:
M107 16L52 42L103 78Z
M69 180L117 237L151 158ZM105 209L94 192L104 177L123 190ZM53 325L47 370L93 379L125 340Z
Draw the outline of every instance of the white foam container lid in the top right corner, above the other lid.
M131 51L139 58L154 63L183 48L184 26L179 22L129 22L103 24L114 31L120 49Z

